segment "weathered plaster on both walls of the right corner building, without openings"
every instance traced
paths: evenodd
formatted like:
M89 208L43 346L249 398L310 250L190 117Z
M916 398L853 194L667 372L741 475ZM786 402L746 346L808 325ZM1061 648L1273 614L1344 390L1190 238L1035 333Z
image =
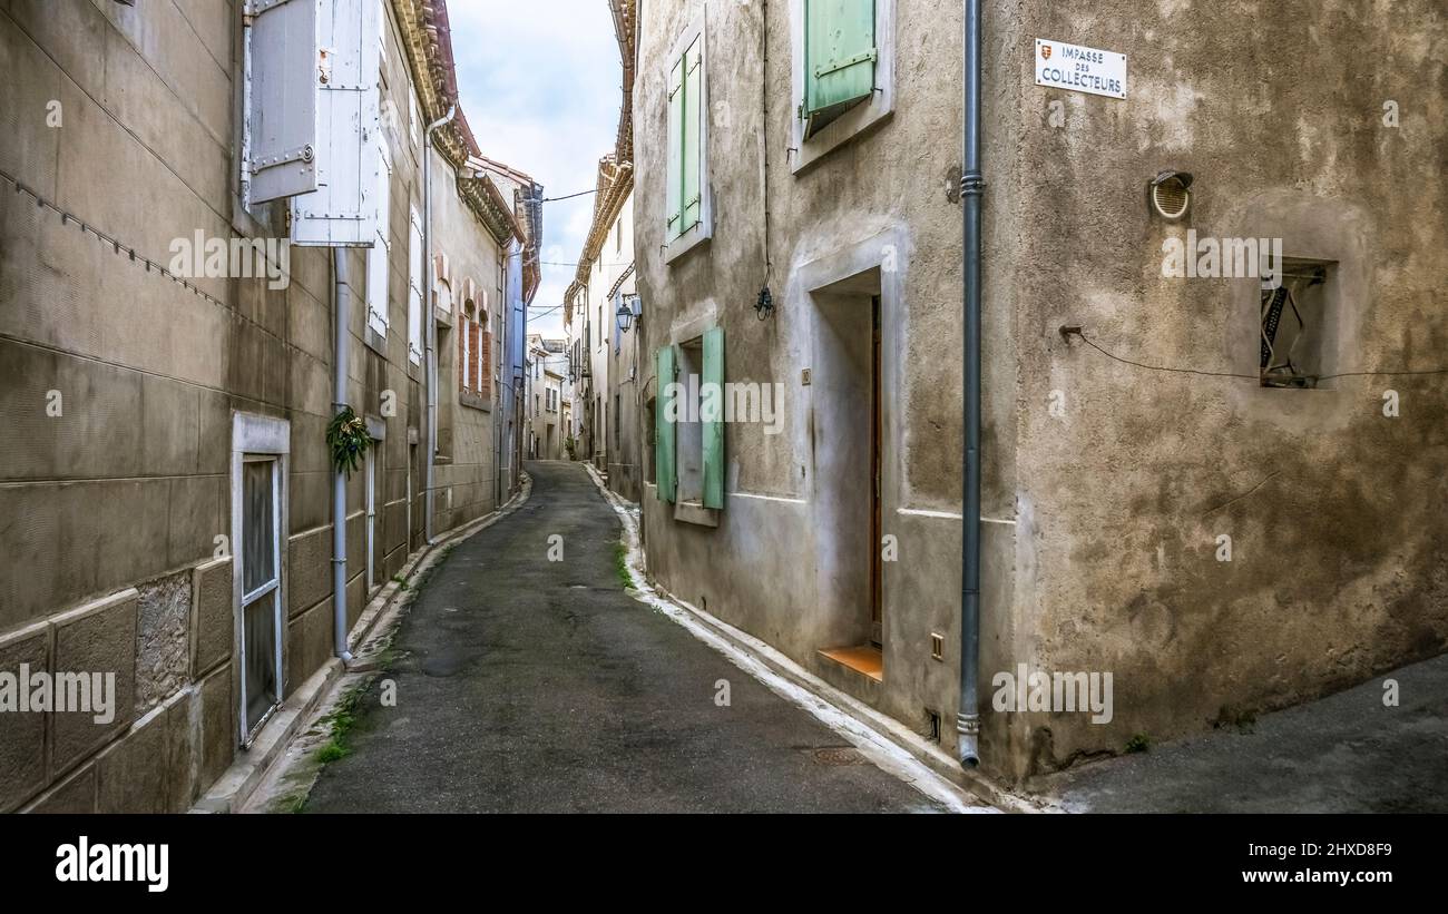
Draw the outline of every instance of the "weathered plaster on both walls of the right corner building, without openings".
M666 55L702 10L660 3L641 25L640 250L663 242ZM717 320L725 377L783 382L788 425L782 435L727 428L717 529L675 522L646 487L650 570L828 672L815 651L834 646L853 610L818 564L850 534L831 526L822 502L837 496L815 477L834 431L817 424L838 392L801 379L820 367L817 298L802 276L867 260L873 239L902 239L901 307L886 318L885 529L899 537L899 561L886 565L883 686L857 693L912 723L925 707L940 712L948 746L961 334L960 210L944 188L960 162L960 7L911 4L898 16L892 116L798 174L786 148L796 104L788 16L788 3L769 4L766 65L759 4L708 4L712 239L672 265L643 259L639 276L646 376L670 328ZM1264 390L1251 377L1144 372L1056 333L1083 324L1138 362L1253 375L1255 283L1163 279L1161 244L1187 228L1281 236L1287 256L1338 262L1351 309L1341 370L1444 367L1441 10L988 3L985 38L986 768L1024 777L1119 752L1135 733L1203 729L1224 709L1250 714L1441 652L1438 376ZM1129 98L1034 87L1035 38L1127 54ZM1400 110L1396 129L1381 120L1387 100ZM1166 168L1197 179L1177 226L1147 213L1145 184ZM757 323L766 198L778 311ZM1381 412L1389 388L1403 402L1396 419ZM1053 392L1063 417L1050 414ZM1234 539L1231 563L1215 560L1218 534ZM944 662L928 658L930 632L944 635ZM1019 662L1112 672L1115 720L993 714L992 677Z

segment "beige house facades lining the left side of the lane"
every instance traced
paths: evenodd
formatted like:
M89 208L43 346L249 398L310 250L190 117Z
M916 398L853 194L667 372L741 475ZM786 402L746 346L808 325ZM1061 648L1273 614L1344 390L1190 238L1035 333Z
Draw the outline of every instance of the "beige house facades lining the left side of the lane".
M537 286L542 192L469 165L459 108L433 133L429 231L423 133L458 101L446 4L356 3L382 165L362 175L375 237L348 247L287 243L306 197L255 202L272 178L242 150L268 127L243 84L279 46L248 43L242 6L0 9L0 671L113 697L0 714L0 810L184 811L346 648L427 545L430 324L434 535L515 489L500 392L521 380L508 309ZM342 477L337 625L343 406L372 445Z

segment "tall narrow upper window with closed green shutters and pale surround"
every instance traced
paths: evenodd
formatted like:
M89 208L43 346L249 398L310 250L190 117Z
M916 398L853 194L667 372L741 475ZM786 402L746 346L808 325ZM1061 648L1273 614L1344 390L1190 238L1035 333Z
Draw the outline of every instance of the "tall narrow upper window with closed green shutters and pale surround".
M708 55L698 20L668 56L668 166L665 262L712 234L708 176Z

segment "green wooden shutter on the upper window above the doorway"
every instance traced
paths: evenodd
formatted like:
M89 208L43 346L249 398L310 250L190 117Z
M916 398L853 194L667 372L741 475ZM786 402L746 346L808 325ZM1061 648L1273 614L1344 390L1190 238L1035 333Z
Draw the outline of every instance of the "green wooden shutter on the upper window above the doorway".
M805 0L805 136L875 91L875 0Z

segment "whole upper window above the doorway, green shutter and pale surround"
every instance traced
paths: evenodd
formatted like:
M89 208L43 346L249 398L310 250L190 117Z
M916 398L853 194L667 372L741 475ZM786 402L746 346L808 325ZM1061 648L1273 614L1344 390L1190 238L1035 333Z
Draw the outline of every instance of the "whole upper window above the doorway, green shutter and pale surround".
M791 0L795 172L893 108L895 0Z

